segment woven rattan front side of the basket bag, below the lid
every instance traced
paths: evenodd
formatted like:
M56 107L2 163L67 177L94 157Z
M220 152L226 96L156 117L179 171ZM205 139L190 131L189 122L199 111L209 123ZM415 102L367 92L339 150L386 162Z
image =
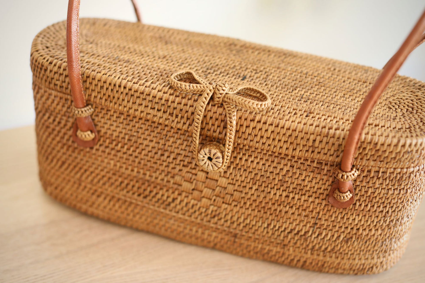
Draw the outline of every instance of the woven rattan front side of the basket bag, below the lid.
M72 142L71 97L34 79L40 179L85 213L180 241L322 272L377 273L398 261L424 168L363 167L355 205L326 202L336 164L236 144L226 171L201 171L191 134L92 103L100 140ZM347 248L342 248L347 247Z

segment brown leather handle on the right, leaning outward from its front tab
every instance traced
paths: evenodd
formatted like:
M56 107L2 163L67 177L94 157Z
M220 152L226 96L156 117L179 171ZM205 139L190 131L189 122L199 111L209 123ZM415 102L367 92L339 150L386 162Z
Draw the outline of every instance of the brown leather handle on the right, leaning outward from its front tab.
M359 146L360 136L363 133L367 120L371 115L371 112L374 109L375 105L378 103L378 100L381 97L382 93L391 83L397 71L405 62L407 56L417 46L419 46L422 42L425 41L425 34L423 34L424 31L425 11L422 13L421 17L416 22L416 25L414 26L406 40L403 42L399 50L394 54L394 56L391 57L388 63L385 64L384 68L382 69L382 72L378 76L371 90L368 92L368 95L366 96L365 100L360 106L360 109L354 117L354 121L351 124L351 128L348 132L348 137L344 146L343 157L341 162L341 171L355 171L355 169L353 169L353 161ZM351 193L354 194L351 180L343 181L339 178L338 189L340 193L347 193L348 191L351 191ZM331 204L336 207L348 207L352 204L352 201L353 199L351 199L351 201L344 200L335 202L333 195L331 196L331 193L329 194L329 202L331 202Z

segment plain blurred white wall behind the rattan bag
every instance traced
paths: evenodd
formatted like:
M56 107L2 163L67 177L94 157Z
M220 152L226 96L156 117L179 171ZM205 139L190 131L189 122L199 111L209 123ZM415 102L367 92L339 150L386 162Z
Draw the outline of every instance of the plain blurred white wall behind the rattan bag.
M1 0L0 129L34 123L29 56L34 36L65 20L67 0ZM82 0L81 17L134 21L130 0ZM143 22L382 68L424 0L139 0ZM425 81L425 44L399 71Z

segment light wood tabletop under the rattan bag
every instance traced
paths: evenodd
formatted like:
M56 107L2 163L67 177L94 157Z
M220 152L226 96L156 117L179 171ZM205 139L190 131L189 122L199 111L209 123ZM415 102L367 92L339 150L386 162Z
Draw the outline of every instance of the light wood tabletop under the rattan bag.
M34 127L0 132L0 281L425 282L425 207L403 258L379 275L332 275L229 255L110 224L47 196Z

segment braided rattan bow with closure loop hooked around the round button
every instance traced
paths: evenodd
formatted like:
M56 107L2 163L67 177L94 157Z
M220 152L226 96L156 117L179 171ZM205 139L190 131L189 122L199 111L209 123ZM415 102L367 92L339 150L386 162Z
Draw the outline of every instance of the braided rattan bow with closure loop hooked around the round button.
M198 83L181 81L185 79ZM223 171L229 163L236 132L236 106L261 111L271 104L269 95L258 88L239 87L229 89L226 83L209 84L204 79L198 77L193 71L183 71L173 74L170 78L170 84L175 90L202 95L195 104L192 150L198 165L205 171ZM241 96L240 94L244 94L245 96ZM225 142L224 146L221 143L213 142L199 148L202 118L204 117L205 107L211 96L213 102L223 104L226 111L227 128Z

